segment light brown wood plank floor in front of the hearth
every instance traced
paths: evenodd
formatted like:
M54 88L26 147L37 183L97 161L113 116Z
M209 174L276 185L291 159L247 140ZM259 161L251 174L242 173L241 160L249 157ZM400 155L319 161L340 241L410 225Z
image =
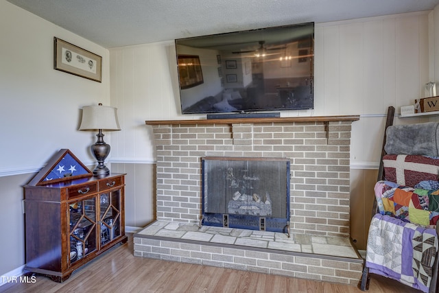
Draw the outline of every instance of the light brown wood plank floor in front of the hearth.
M134 257L128 236L128 244L97 257L64 283L37 275L35 283L8 283L0 292L361 292L352 285ZM368 292L419 291L373 276Z

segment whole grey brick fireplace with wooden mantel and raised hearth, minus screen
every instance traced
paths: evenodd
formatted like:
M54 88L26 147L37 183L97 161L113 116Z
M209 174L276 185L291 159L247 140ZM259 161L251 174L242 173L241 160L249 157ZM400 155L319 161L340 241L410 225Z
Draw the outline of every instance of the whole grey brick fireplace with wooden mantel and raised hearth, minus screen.
M349 240L349 145L357 119L147 121L156 143L157 221L134 235L134 254L357 285L362 259ZM288 158L291 237L198 229L204 156Z

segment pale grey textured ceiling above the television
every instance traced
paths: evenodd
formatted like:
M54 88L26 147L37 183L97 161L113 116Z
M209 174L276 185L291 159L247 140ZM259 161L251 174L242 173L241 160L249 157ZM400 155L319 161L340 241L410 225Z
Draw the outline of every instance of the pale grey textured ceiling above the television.
M106 48L432 10L439 0L8 0Z

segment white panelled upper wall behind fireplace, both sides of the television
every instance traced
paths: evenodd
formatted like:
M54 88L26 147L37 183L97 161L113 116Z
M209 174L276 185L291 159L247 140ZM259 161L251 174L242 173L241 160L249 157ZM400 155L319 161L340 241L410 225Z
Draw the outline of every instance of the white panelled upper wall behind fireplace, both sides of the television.
M399 112L413 104L430 81L429 30L429 12L316 24L315 109L281 115L361 115L353 124L351 166L376 167L388 106ZM112 104L126 113L130 129L113 137L113 159L154 161L145 120L205 117L177 110L174 54L172 41L110 49ZM127 145L130 140L134 143Z

